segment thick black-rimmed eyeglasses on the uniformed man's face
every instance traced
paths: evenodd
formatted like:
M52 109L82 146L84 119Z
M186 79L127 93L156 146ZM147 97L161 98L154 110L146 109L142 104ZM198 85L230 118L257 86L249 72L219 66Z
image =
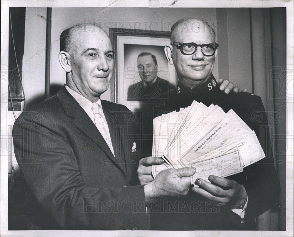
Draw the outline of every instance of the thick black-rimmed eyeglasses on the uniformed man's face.
M193 42L173 42L173 45L180 49L181 53L184 55L192 55L197 50L197 47L201 47L201 52L204 56L212 56L216 49L218 48L218 44L195 44Z

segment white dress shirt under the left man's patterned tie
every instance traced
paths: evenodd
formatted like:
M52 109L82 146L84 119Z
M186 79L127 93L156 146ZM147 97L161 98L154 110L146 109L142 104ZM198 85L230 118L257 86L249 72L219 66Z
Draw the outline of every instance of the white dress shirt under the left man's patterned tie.
M90 117L90 119L92 120L92 122L95 124L95 119L94 119L94 114L93 114L93 111L92 111L92 107L93 107L93 104L98 104L102 108L100 98L99 98L99 100L96 103L92 103L90 100L88 100L87 98L83 97L78 92L76 92L76 91L72 90L71 88L69 88L67 85L65 85L65 88L72 95L72 97L74 97L74 99L78 102L78 104L81 105L81 107L83 108L83 110L85 110L85 112L87 113L87 115ZM109 132L109 128L108 128L108 125L107 125L107 122L106 122L106 118L105 118L104 113L102 113L101 116L105 120L105 124L106 124L105 130L107 132L107 135L108 135L109 138L111 138L110 132ZM96 125L96 124L95 124L95 126L98 128L99 132L102 135L103 134L103 128L102 127L99 127L99 125ZM110 143L111 143L111 146L113 146L112 145L112 142L111 142L111 139L110 139ZM110 150L113 151L113 148L112 149L110 148Z

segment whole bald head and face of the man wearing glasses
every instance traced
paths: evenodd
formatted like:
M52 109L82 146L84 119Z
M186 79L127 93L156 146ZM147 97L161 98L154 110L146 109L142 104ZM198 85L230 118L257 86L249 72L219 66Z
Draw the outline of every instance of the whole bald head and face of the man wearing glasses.
M215 44L215 32L206 21L185 19L173 24L171 44L166 45L164 50L168 62L175 66L178 81L182 85L195 87L209 79L217 54ZM195 50L191 54L184 53L183 47L185 50L194 47ZM203 47L213 48L213 54L203 53Z

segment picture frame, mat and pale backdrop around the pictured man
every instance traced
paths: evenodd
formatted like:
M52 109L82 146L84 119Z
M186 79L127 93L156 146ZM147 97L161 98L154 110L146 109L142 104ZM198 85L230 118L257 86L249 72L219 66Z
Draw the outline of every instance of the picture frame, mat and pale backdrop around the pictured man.
M128 87L141 81L137 68L137 57L142 52L155 55L158 77L169 81L171 88L177 84L176 71L164 53L170 43L169 31L109 28L109 37L114 49L114 73L110 82L111 102L126 105L133 112L140 107L140 99L128 100Z

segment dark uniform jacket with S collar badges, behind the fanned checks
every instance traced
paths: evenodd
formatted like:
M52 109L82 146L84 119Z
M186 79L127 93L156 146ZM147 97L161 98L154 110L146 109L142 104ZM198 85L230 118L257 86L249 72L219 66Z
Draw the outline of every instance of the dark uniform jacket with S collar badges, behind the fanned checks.
M174 215L175 211L171 213L168 213L168 211L151 213L151 229L255 230L255 217L268 209L271 209L272 212L278 212L278 197L280 195L280 184L270 148L270 130L260 97L246 92L231 92L226 95L219 90L219 85L217 85L213 75L206 83L194 88L187 88L178 84L175 91L169 92L169 96L170 100L163 102L162 106L154 108L153 117L179 110L181 107L185 108L191 105L193 100L202 102L206 106L218 105L225 112L233 109L255 131L266 158L245 167L242 173L227 177L236 180L247 191L248 205L244 220L231 210L217 206L217 203L207 202L191 191L186 197L172 199L173 204L180 201L177 215ZM143 124L143 127L148 126L151 125ZM150 149L149 152L151 153ZM191 208L193 201L199 201L198 203L194 202L194 210ZM186 204L189 208L185 209Z

